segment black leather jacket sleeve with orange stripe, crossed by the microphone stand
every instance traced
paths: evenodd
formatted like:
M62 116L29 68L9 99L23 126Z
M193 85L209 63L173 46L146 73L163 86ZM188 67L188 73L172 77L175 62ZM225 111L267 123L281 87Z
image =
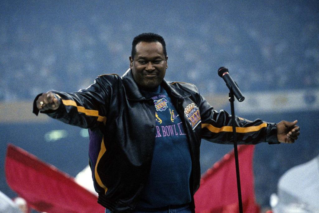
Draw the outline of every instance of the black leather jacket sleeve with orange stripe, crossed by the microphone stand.
M197 99L202 120L202 138L215 143L233 143L231 115L224 110L219 112L214 110L199 93L197 93ZM275 123L264 122L260 119L249 121L238 116L235 116L235 122L238 144L279 143Z

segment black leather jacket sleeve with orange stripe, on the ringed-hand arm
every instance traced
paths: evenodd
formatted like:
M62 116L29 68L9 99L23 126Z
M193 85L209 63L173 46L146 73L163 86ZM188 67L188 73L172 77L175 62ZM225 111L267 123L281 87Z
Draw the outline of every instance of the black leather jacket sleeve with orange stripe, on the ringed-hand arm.
M62 121L67 124L82 128L94 128L106 122L107 106L109 103L110 84L104 83L100 77L85 90L78 92L53 92L60 101L60 106L56 110L48 110L41 113ZM33 102L33 113L38 114L36 100Z

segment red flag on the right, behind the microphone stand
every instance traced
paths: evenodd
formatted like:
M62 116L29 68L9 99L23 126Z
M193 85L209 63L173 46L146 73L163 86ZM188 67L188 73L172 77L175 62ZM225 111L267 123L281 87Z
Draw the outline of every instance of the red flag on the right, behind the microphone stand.
M260 212L254 192L254 148L254 145L238 146L241 198L245 213ZM206 171L194 199L198 213L239 212L234 150Z

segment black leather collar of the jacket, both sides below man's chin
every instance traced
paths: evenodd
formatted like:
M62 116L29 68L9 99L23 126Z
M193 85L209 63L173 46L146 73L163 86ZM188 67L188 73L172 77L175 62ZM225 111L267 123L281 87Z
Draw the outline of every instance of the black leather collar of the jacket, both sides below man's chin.
M136 101L146 100L146 98L141 94L136 82L134 81L132 69L128 69L121 78L123 80L127 99ZM190 96L188 92L172 86L170 83L167 83L165 79L163 79L161 85L167 91L167 94L173 96L174 98L185 99Z

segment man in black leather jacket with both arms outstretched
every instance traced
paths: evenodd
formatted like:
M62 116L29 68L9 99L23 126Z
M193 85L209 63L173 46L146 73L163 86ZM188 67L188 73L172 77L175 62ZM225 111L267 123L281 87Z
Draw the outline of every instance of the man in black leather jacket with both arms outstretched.
M86 90L38 95L34 113L89 129L94 187L108 211L194 211L201 138L232 143L231 117L214 111L193 84L164 80L161 36L136 36L129 59L122 77L100 75ZM299 135L297 121L236 122L242 144L293 143Z

